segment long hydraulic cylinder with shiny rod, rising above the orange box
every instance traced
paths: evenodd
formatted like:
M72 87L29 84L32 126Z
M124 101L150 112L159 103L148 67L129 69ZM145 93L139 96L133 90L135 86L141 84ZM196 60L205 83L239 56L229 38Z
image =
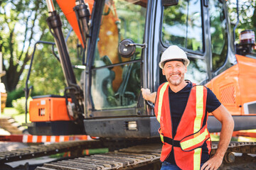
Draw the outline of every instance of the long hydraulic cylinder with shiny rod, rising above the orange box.
M78 86L75 80L75 74L73 72L73 67L70 62L70 57L68 55L68 48L65 43L65 38L63 36L63 32L61 30L62 23L60 21L60 16L55 11L53 6L53 1L47 0L48 13L49 17L47 18L47 23L50 28L50 33L53 34L55 44L58 47L58 53L60 57L60 64L63 69L63 74L65 77L65 83L67 87L65 88L65 96L70 97L72 99L72 103L68 104L68 100L66 100L66 104L68 104L68 113L73 115L75 120L80 120L82 114L84 113L83 109L83 96L82 89ZM66 98L67 98L66 97Z

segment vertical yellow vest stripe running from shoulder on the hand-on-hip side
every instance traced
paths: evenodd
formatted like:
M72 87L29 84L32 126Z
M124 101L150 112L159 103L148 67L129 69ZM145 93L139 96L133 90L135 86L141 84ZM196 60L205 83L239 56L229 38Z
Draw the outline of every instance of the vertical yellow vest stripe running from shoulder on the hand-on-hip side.
M196 119L194 121L193 132L196 133L201 129L203 117L203 86L196 86Z

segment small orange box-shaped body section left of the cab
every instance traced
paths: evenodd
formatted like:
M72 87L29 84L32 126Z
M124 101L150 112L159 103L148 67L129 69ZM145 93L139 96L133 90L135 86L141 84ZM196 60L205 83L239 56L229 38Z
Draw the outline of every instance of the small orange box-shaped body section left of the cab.
M71 101L68 98L68 101ZM70 120L64 97L33 98L29 105L31 122Z

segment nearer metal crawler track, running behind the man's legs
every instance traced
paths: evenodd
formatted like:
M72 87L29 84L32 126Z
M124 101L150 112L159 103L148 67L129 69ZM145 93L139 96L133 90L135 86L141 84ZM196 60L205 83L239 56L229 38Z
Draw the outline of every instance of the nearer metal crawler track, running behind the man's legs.
M218 142L213 142L213 153L218 147ZM255 154L256 142L231 142L225 155L225 164L221 169L229 165L227 163L235 162L232 152L244 154ZM125 149L119 149L115 152L106 154L95 154L90 157L79 157L67 161L53 162L37 167L36 170L105 170L105 169L141 169L143 166L160 166L161 144L137 145ZM255 162L256 163L256 162ZM238 165L235 165L238 166ZM252 165L256 167L255 165ZM148 169L148 168L147 168ZM154 168L153 168L154 169ZM156 168L157 169L157 168Z

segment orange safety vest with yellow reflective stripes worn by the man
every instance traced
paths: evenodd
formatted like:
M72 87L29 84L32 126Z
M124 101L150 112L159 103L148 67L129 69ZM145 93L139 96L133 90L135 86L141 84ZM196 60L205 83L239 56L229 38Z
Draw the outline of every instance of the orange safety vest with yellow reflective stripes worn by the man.
M193 84L176 135L173 137L169 84L166 82L159 86L154 111L160 123L161 141L164 143L161 150L161 162L164 162L169 157L171 149L174 149L174 159L179 168L200 169L203 143L206 142L209 154L211 150L210 134L207 129L206 97L206 86ZM203 126L205 117L206 125Z

